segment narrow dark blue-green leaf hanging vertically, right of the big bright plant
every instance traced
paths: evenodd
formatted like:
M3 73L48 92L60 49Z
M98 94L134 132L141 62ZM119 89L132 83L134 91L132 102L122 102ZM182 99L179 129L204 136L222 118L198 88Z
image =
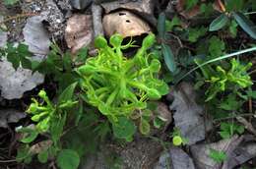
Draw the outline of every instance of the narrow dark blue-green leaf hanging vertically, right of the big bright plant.
M168 45L161 43L161 47L162 47L162 55L163 55L164 63L167 66L168 70L171 73L174 73L176 71L176 63L174 61L174 55Z

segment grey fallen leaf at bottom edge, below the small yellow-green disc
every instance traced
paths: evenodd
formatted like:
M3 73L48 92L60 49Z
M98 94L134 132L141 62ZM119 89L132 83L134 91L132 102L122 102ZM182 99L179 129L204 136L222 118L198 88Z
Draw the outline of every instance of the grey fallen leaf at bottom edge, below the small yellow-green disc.
M160 160L154 169L195 169L193 160L179 147L171 146L160 155Z

